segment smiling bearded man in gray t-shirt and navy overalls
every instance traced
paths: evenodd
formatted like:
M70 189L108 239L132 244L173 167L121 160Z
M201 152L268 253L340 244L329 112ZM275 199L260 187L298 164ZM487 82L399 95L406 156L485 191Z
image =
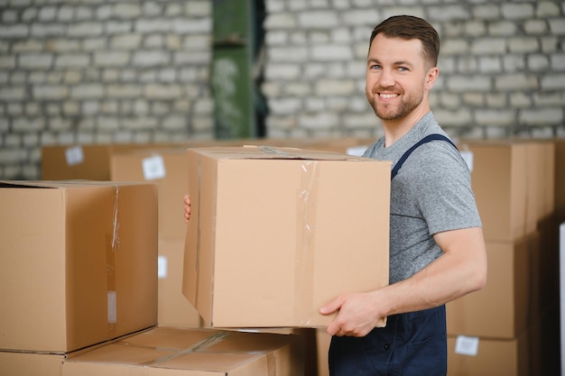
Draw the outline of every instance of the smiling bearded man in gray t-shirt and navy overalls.
M328 326L331 376L445 375L445 303L486 284L468 167L430 110L439 51L438 33L418 17L388 18L371 34L366 97L384 137L365 156L394 166L390 284L341 295L320 308L324 315L337 312ZM431 142L410 153L429 135ZM382 317L386 326L375 327Z

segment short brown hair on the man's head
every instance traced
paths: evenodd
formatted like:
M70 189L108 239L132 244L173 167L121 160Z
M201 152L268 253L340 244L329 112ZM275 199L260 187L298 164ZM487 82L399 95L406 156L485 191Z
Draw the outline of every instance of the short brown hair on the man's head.
M420 40L424 59L431 63L431 67L435 67L438 64L440 36L426 20L413 15L394 15L389 17L375 26L375 29L371 32L369 46L375 39L376 34L379 33L387 37Z

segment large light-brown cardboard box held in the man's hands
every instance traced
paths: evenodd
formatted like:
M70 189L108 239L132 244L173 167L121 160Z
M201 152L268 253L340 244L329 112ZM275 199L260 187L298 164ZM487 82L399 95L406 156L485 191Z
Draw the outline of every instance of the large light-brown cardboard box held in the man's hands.
M327 326L319 308L388 284L390 162L188 149L183 294L212 327Z

